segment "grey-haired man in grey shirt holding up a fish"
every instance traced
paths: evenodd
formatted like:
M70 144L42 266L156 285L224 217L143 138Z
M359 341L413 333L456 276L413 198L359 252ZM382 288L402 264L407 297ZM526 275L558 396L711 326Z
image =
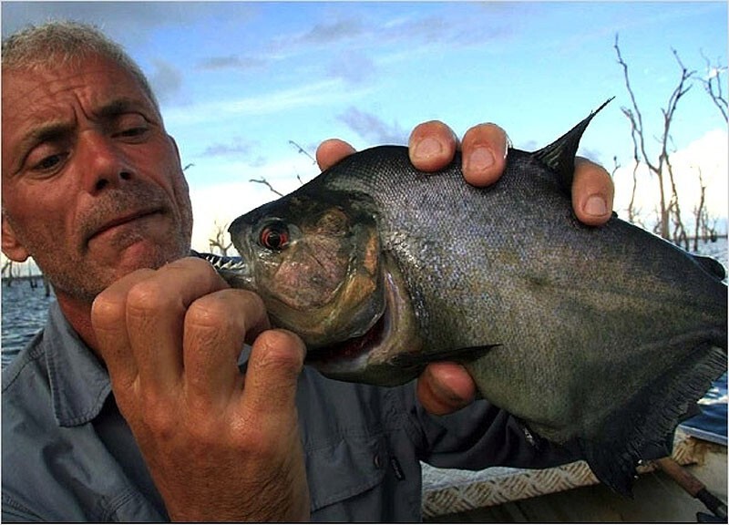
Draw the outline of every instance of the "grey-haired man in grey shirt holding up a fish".
M419 459L573 458L471 403L457 365L392 389L303 369L303 343L269 329L255 294L186 257L177 147L139 67L96 30L9 37L2 82L3 252L32 256L57 298L3 374L4 520L418 520ZM456 147L437 122L410 139L422 170ZM503 131L471 129L462 149L468 180L498 179ZM351 152L327 141L317 159ZM583 221L607 220L604 170L581 164L574 195Z

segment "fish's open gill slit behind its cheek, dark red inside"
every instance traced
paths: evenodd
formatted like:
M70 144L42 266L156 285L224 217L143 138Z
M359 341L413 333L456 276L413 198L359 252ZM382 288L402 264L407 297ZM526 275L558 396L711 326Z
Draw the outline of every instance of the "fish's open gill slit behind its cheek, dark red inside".
M416 314L405 282L394 264L385 264L385 309L371 328L333 345L312 349L306 364L324 376L395 386L417 376L408 373L397 361L403 355L418 355L423 348ZM417 359L415 359L417 361Z

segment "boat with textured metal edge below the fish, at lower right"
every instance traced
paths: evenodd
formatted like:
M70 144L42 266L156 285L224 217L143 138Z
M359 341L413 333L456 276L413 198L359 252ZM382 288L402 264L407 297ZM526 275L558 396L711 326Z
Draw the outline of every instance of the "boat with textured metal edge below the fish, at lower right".
M683 486L676 480L683 478ZM710 505L694 497L703 487ZM587 463L480 471L423 468L426 522L727 522L726 436L678 427L670 459L648 461L627 498L602 485ZM714 507L714 508L712 508Z

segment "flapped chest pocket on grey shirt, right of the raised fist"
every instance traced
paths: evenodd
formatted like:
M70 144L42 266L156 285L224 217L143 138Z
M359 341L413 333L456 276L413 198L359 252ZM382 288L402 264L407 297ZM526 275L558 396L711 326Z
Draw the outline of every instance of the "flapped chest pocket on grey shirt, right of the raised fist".
M387 446L383 436L345 436L305 451L311 510L352 499L385 479Z

